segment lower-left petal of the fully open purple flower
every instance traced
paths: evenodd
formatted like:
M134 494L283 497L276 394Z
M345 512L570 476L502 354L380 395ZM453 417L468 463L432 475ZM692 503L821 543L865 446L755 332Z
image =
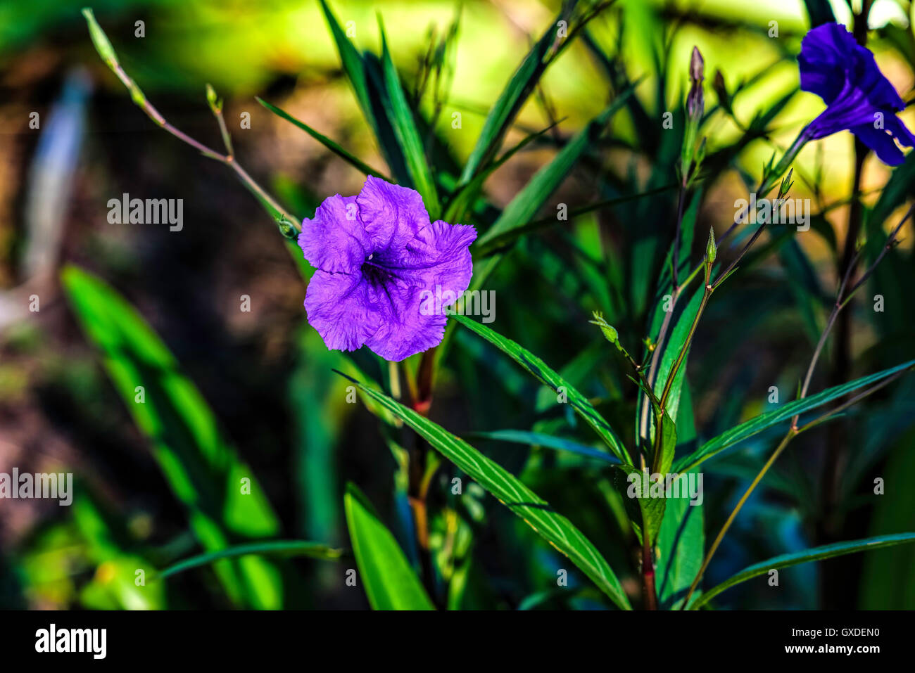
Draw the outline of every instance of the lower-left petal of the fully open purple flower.
M328 348L356 350L378 331L381 314L371 289L361 273L318 270L311 277L305 295L308 324Z

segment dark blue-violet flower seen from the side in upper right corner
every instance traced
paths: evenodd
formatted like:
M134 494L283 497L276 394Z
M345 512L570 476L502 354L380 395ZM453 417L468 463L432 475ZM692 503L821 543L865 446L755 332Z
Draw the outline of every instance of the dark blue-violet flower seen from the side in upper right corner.
M898 166L905 161L893 142L895 138L907 147L915 145L915 136L896 116L905 103L877 68L874 55L844 26L813 28L803 38L798 61L801 89L817 94L826 103L825 111L807 127L807 139L847 130L885 164Z

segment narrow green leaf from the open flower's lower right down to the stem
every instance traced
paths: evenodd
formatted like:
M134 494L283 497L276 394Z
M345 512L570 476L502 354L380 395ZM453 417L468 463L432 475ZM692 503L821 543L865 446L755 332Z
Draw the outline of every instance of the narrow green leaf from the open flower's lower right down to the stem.
M584 395L567 383L565 379L560 377L553 369L550 369L542 359L537 358L533 353L519 346L511 339L502 337L498 332L494 332L489 327L468 318L466 315L452 315L451 317L469 330L476 332L493 346L499 348L524 369L531 372L535 379L553 389L554 392L559 393L559 389L562 388L562 392L565 393L572 409L574 409L588 425L594 428L595 432L600 435L600 438L607 443L610 451L623 463L629 462L626 455L626 447L623 446L623 443L619 440L617 433L613 432L613 428L610 427L609 423L597 413L597 410L591 405L591 402L587 401Z

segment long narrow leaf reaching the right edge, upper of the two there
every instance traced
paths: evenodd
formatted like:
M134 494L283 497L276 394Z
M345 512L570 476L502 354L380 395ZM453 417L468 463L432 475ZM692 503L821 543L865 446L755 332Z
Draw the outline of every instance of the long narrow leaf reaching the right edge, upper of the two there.
M763 430L770 428L776 423L786 421L792 416L803 413L804 411L816 409L817 407L823 406L823 404L829 401L833 401L836 398L842 397L852 390L863 388L864 386L867 386L871 383L877 383L877 381L887 379L893 374L896 374L903 369L910 369L913 366L915 366L915 360L910 360L909 362L897 365L896 367L878 371L876 374L870 374L869 376L855 379L853 381L849 381L848 383L834 386L833 388L827 388L826 390L818 392L816 395L806 397L803 400L788 402L787 404L781 406L779 409L761 413L759 416L751 418L747 422L742 422L730 430L719 434L715 439L704 443L693 454L684 456L684 458L677 461L676 465L673 467L673 470L674 472L686 472L691 470L696 465L699 465L703 461L711 458L713 455L721 453L736 443L743 442L745 439L752 437L754 434L761 433Z

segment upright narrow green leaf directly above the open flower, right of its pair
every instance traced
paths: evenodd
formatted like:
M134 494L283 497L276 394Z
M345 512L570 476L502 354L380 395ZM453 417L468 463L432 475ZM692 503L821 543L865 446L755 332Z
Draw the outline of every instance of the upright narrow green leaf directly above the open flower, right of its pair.
M379 18L379 29L382 31L382 70L384 72L384 86L388 92L391 105L388 108L388 118L393 125L394 134L404 153L407 170L413 178L414 187L423 197L425 209L429 211L429 218L436 220L441 216L441 206L436 192L436 181L432 170L425 161L423 141L416 130L413 111L410 109L401 86L400 76L394 68L391 52L384 37L384 29Z

